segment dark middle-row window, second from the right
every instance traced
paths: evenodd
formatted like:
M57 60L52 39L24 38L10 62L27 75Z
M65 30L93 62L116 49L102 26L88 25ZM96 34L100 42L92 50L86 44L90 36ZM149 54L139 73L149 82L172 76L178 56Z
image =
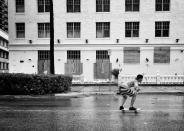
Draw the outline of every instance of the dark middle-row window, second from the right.
M125 37L139 37L139 22L125 22Z

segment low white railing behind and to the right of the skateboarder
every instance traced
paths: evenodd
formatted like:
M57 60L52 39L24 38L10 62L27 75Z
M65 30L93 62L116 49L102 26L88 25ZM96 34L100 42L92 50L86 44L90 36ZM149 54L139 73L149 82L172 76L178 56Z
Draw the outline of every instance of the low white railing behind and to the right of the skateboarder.
M121 82L128 82L135 79L135 76L120 76L118 78L118 84ZM149 75L144 76L142 84L144 85L151 85L151 84L158 84L158 85L182 85L184 84L184 75Z

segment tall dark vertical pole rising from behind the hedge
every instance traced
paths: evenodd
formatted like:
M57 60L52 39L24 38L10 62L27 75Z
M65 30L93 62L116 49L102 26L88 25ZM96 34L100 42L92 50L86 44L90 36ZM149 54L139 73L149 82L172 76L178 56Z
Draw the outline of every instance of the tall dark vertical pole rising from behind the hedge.
M54 71L54 11L53 0L50 0L50 74Z

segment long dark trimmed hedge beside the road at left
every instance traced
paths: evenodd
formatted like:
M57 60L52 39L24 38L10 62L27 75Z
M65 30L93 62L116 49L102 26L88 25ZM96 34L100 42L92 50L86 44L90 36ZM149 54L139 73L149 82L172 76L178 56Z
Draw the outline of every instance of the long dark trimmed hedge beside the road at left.
M0 74L0 94L44 95L70 91L72 77L64 75Z

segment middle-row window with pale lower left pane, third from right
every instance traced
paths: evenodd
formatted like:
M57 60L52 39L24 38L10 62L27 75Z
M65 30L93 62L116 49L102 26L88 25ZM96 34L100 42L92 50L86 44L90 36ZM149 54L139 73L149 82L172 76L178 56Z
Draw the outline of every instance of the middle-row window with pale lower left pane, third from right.
M109 38L109 37L110 37L110 22L97 22L96 38Z

